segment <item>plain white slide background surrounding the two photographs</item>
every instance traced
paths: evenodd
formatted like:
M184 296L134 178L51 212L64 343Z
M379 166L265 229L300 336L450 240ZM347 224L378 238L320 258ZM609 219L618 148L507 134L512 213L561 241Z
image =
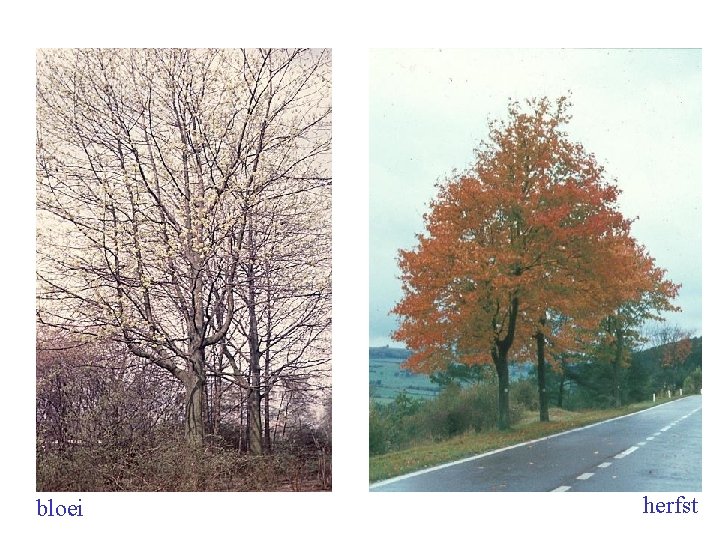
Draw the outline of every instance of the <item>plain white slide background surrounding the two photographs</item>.
M0 527L31 538L707 538L718 514L717 253L720 57L709 2L40 2L3 9L4 393ZM713 22L714 21L714 22ZM314 46L333 49L333 492L36 494L34 63L36 47ZM703 48L703 493L697 515L643 515L633 494L367 491L368 48ZM650 494L649 494L650 495ZM687 495L687 494L686 494ZM84 518L38 518L35 499L82 498ZM652 495L656 500L659 495ZM663 496L665 497L665 496ZM668 499L674 496L667 494ZM9 534L8 534L9 533Z

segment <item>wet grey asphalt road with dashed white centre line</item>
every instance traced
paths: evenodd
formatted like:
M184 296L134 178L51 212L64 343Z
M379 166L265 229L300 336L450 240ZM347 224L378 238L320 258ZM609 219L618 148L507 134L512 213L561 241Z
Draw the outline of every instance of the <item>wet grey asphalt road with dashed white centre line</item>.
M370 491L701 491L702 398L378 482Z

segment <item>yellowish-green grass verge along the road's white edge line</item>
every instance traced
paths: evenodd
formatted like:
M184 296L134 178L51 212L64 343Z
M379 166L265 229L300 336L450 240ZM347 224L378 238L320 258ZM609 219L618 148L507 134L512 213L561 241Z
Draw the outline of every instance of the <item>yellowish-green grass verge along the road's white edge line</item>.
M531 441L553 433L586 426L609 418L616 418L670 400L633 403L616 409L566 411L550 409L550 422L537 420L537 412L528 412L517 424L507 431L486 431L465 433L439 442L422 442L411 448L389 452L370 458L370 482L400 476L434 465L482 454L513 444Z

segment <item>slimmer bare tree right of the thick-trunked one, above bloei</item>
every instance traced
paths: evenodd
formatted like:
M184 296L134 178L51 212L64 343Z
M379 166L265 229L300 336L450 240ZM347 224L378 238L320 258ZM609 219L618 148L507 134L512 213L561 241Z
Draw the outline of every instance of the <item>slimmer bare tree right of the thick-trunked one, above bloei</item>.
M330 231L317 220L330 212L325 191L267 201L247 221L247 254L239 270L245 284L237 301L245 310L222 347L234 382L246 391L246 439L253 453L270 450L278 383L304 381L308 392L329 384Z

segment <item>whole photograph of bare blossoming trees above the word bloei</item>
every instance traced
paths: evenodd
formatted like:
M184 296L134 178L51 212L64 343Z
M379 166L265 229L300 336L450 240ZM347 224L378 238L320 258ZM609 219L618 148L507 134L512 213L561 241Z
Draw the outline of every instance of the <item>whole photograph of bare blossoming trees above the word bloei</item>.
M330 49L36 76L36 490L331 490Z

